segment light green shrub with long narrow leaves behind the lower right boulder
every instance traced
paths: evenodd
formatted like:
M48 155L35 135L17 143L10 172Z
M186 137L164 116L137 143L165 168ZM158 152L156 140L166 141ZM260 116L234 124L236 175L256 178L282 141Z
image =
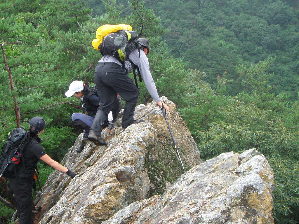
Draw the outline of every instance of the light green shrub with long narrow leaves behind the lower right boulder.
M277 223L298 223L299 133L254 106L239 105L225 111L227 121L213 122L207 131L196 131L203 159L222 152L257 148L274 169L274 218ZM238 119L238 118L241 118ZM293 217L294 218L294 217Z

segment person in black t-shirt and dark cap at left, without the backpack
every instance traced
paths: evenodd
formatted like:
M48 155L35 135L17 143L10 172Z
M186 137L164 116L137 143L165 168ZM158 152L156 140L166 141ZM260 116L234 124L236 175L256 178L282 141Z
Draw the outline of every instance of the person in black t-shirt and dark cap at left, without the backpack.
M30 140L24 148L20 165L17 167L17 177L9 178L9 186L15 195L19 224L33 224L31 216L33 209L33 176L39 159L42 159L51 167L68 174L72 178L76 175L74 172L68 170L68 168L51 159L40 145L41 139L39 135L45 130L44 119L42 117L33 117L29 125Z

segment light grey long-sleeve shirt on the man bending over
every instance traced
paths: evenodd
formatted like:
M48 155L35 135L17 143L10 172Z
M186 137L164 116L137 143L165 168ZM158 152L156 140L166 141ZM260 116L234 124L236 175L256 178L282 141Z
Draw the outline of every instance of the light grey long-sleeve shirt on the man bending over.
M133 50L129 55L129 59L139 67L145 86L147 87L147 90L149 91L149 94L152 96L154 101L155 102L160 101L160 97L155 82L152 78L152 74L149 71L149 61L144 51L140 50L140 58L139 58L138 49ZM104 55L99 62L115 62L122 67L118 59L108 54ZM132 64L129 61L125 62L125 67L129 72L132 71Z

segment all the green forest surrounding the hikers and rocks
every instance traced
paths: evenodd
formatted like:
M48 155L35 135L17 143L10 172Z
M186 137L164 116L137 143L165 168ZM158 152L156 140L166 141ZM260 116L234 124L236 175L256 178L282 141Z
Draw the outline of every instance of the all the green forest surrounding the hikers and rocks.
M275 174L275 223L299 223L298 0L0 1L0 141L42 116L45 151L60 161L80 130L74 80L93 85L101 58L91 46L103 24L130 24L150 40L149 64L160 96L176 103L203 160L257 148ZM11 88L8 73L13 76ZM152 99L139 84L139 103ZM15 100L18 104L15 109ZM52 168L40 163L44 183ZM9 200L2 188L0 196ZM13 210L0 204L0 223Z

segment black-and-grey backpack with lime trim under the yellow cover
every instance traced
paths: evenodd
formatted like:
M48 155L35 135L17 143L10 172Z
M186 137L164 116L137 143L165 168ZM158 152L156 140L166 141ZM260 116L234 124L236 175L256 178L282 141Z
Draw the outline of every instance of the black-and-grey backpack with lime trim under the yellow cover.
M135 69L138 71L139 81L141 82L140 70L131 60L129 60L129 54L135 49L139 50L140 57L141 45L137 40L137 33L129 30L119 30L115 33L109 33L103 38L103 41L98 48L103 56L108 54L118 59L124 69L125 61L129 61L132 64L135 84L138 88Z

